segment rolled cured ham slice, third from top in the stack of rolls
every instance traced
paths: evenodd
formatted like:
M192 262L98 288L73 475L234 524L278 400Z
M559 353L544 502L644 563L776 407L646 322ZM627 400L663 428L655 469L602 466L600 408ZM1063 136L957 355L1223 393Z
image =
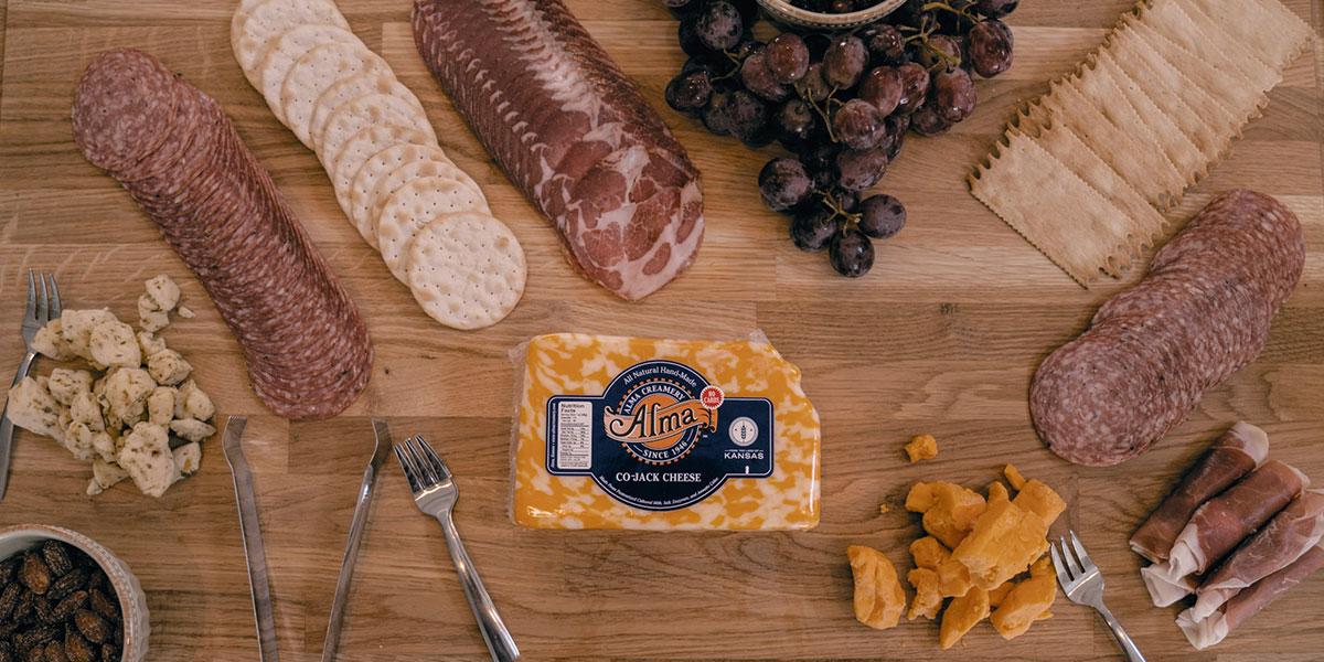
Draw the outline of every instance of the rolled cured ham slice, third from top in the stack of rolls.
M1245 588L1291 565L1324 538L1324 491L1287 504L1201 584L1192 616L1205 620Z

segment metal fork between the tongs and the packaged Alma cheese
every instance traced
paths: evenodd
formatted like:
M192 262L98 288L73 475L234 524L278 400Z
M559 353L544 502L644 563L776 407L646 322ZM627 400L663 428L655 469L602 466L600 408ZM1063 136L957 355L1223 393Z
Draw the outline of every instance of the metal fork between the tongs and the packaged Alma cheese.
M455 564L455 572L459 573L459 583L465 587L469 608L473 609L474 618L478 620L478 630L483 634L493 661L514 662L519 659L519 647L515 646L515 639L511 638L510 630L506 629L500 614L496 613L496 605L493 604L487 589L483 588L483 580L478 577L474 561L465 551L465 543L459 540L459 531L451 516L455 500L459 499L459 489L455 486L450 467L418 434L404 444L396 444L395 450L400 469L409 479L409 489L413 490L418 510L437 518L437 522L441 523L441 531L446 535L446 547L450 549L450 560Z

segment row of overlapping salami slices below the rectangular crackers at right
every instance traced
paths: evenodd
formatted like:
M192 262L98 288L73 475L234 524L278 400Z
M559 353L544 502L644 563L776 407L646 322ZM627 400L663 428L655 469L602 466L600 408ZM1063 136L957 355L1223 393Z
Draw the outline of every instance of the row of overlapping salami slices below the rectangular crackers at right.
M1039 437L1079 465L1144 453L1205 391L1259 356L1304 262L1301 225L1278 200L1219 196L1155 256L1139 285L1039 365L1030 387Z

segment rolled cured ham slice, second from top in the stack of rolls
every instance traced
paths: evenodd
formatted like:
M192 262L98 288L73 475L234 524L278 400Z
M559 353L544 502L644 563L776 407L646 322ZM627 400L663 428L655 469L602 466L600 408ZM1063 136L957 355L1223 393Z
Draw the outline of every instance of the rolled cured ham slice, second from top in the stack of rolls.
M1305 474L1275 459L1205 502L1181 530L1168 563L1141 573L1155 604L1170 597L1166 591L1172 589L1156 579L1180 585L1185 577L1206 572L1308 486Z

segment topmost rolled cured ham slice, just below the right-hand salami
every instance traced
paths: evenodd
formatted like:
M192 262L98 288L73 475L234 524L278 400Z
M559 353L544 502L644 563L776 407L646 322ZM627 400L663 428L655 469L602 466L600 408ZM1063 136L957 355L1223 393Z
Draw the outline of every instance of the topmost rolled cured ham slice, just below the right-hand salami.
M1131 549L1153 563L1168 560L1168 552L1200 504L1258 469L1267 455L1264 430L1249 422L1233 425L1140 524L1131 536Z

